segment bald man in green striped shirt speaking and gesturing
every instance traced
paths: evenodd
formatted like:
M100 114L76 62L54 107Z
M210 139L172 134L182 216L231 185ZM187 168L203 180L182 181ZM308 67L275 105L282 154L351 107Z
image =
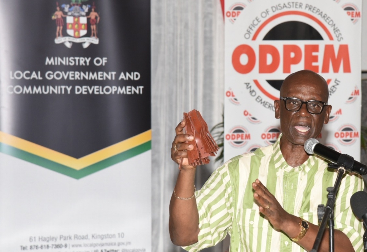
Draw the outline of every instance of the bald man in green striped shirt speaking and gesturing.
M185 122L176 127L171 157L182 158L170 203L170 235L188 251L213 246L226 233L230 251L310 251L317 231L317 205L326 204L326 188L337 172L304 150L304 142L319 136L328 123L328 86L318 74L302 70L289 75L274 101L282 134L275 144L232 158L219 167L195 194L196 167L188 164ZM334 208L335 251L362 251L362 225L349 199L363 189L359 175L347 174ZM198 225L199 223L199 225ZM328 230L319 251L329 251ZM304 250L303 250L304 249Z

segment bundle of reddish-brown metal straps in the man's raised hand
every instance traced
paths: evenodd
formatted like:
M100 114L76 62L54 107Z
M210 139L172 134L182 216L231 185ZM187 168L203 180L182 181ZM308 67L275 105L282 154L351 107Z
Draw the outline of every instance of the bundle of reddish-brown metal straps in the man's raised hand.
M194 136L194 140L189 142L194 149L187 153L189 164L194 166L208 164L209 156L215 156L219 147L211 136L207 123L197 110L183 113L183 120L186 122L186 134Z

